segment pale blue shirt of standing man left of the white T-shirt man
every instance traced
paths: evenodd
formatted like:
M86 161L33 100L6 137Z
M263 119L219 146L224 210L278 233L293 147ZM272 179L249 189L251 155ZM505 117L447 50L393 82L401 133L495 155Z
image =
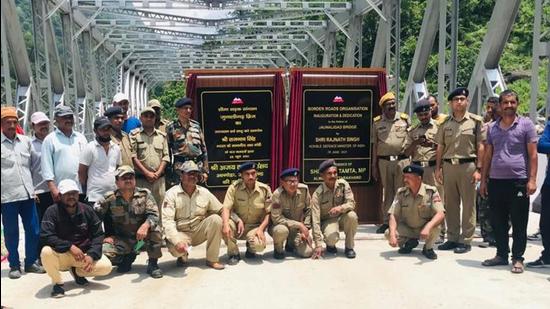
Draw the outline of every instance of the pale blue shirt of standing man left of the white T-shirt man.
M53 180L59 184L63 179L72 179L80 186L78 163L86 144L88 141L81 133L73 130L71 136L66 136L55 128L42 143L41 165L44 180Z

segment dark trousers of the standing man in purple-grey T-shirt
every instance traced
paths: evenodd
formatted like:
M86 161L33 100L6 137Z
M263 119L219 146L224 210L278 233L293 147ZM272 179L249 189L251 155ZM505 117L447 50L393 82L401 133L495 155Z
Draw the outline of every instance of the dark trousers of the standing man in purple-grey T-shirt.
M489 207L493 223L497 256L508 259L508 221L512 222L512 259L523 261L527 246L529 195L526 179L490 179Z

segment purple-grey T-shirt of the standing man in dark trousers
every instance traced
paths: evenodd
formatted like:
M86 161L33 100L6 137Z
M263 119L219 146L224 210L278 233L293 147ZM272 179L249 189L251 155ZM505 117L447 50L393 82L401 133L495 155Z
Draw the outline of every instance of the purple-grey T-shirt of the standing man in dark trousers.
M500 127L502 118L489 125L487 144L493 146L489 178L527 179L529 155L527 144L537 142L533 122L527 117L516 116L508 129Z

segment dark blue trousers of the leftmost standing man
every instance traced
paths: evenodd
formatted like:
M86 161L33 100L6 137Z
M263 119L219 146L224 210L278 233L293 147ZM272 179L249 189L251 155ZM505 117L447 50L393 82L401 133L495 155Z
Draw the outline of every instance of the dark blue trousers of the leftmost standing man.
M34 199L2 203L2 224L4 239L8 249L10 268L21 267L19 260L19 216L25 229L25 266L30 266L38 258L38 214Z

